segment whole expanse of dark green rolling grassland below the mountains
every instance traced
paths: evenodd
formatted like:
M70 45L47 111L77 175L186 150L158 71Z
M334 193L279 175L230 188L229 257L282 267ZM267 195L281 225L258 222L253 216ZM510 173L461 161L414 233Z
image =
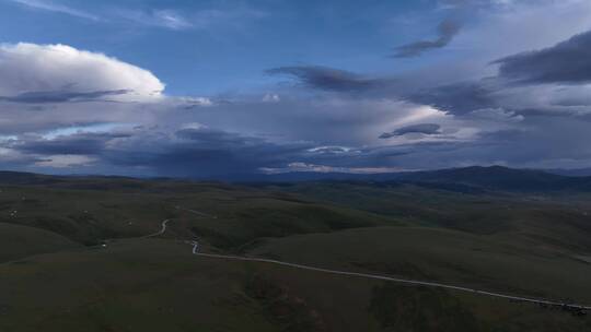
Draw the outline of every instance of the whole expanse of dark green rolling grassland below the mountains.
M0 188L0 331L591 330L589 317L534 305L198 257L185 242L591 303L584 193L20 181ZM163 235L139 238L163 220Z

